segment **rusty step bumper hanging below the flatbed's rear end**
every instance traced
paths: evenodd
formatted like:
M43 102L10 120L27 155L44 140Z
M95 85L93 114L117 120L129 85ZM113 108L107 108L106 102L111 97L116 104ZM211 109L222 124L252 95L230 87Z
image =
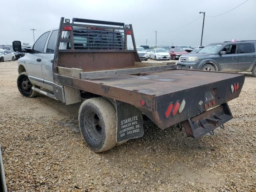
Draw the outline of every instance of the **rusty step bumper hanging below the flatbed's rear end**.
M188 137L198 139L233 118L227 103L182 122Z

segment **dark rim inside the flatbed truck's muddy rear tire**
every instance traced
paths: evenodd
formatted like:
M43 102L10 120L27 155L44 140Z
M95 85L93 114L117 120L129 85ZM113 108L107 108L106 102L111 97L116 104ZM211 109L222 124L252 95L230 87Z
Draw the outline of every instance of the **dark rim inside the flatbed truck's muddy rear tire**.
M102 138L102 127L98 115L93 111L88 111L84 115L84 126L88 136L94 141L99 141Z

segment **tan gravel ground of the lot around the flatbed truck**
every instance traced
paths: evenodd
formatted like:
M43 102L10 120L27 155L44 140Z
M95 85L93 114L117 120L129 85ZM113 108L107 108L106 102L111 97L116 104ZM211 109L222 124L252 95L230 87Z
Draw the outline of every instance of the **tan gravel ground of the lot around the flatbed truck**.
M142 138L100 154L78 132L80 104L16 88L17 62L0 63L0 142L9 191L256 191L256 78L246 73L234 119L187 138L146 122Z

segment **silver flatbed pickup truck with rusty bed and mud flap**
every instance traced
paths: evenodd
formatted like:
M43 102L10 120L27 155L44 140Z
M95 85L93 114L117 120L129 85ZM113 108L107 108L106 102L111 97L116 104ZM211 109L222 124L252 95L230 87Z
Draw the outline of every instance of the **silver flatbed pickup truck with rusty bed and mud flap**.
M127 36L134 50L127 50ZM66 104L86 99L79 126L95 152L143 136L144 118L160 129L182 122L198 139L232 119L227 102L244 84L242 74L141 62L131 24L61 18L59 28L37 42L18 60L20 93ZM21 52L20 41L13 48Z

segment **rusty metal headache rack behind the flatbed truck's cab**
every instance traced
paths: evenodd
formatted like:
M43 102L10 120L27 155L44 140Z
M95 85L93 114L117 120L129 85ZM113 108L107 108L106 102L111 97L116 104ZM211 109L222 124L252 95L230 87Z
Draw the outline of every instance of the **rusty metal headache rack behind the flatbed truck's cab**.
M134 50L127 50L127 36L132 38ZM54 73L57 67L98 71L129 68L140 62L132 25L73 18L60 20L54 55Z

